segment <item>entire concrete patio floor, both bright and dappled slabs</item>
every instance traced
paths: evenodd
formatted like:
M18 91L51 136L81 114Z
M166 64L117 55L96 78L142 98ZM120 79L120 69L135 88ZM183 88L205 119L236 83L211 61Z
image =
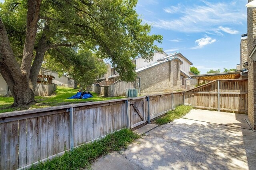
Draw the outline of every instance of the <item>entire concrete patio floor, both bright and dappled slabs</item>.
M92 169L256 170L256 133L246 126L246 115L201 111L192 110L186 119L160 127L148 126L154 129L138 144L98 159Z

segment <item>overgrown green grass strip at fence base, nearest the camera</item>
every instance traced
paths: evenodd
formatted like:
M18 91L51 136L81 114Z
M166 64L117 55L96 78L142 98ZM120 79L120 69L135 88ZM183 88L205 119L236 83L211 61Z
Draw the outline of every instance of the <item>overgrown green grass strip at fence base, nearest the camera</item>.
M95 159L112 151L126 148L139 137L138 134L133 133L130 129L122 129L107 135L103 139L83 144L72 151L67 151L62 156L56 156L44 163L40 162L30 170L79 170L80 168L88 168Z

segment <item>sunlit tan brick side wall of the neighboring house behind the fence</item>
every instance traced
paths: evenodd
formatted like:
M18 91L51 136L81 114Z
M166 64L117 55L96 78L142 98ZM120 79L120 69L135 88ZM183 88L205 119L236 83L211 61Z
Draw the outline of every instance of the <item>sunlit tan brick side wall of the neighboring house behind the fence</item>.
M180 62L177 60L142 70L137 73L137 76L140 77L142 93L180 90Z

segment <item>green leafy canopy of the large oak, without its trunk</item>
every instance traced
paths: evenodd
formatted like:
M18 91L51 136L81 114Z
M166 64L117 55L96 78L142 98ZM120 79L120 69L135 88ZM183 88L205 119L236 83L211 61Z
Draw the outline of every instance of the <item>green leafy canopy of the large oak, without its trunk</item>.
M101 59L110 59L122 80L132 81L136 73L131 59L152 59L154 51L161 51L154 41L162 43L162 36L148 35L151 26L139 19L136 4L137 0L44 0L34 53L41 49L41 40L51 50L51 57L62 55L66 62L72 60L69 53L92 50ZM17 61L22 59L27 8L26 0L0 4Z

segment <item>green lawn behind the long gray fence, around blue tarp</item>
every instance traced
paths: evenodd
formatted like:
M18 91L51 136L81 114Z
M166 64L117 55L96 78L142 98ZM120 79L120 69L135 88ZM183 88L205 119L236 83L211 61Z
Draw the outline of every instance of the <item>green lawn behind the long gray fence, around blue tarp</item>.
M52 94L52 96L35 96L36 103L31 105L29 109L37 109L42 107L50 107L50 106L60 106L65 104L75 104L81 102L96 102L96 101L104 101L104 100L112 100L112 99L120 99L124 97L105 97L94 92L91 92L93 97L88 99L67 99L78 92L77 89L57 86L57 90ZM28 108L6 108L11 106L13 103L13 97L0 96L0 113L10 112L10 111L18 111L18 110L26 110Z

